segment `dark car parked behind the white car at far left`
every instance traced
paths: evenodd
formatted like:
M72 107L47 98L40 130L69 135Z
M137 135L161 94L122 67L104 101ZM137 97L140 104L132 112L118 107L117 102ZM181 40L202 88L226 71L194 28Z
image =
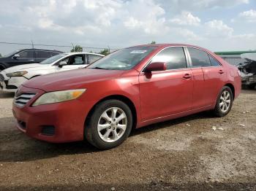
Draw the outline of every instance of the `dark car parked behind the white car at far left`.
M46 58L62 53L59 50L23 49L0 58L0 71L26 63L39 63Z

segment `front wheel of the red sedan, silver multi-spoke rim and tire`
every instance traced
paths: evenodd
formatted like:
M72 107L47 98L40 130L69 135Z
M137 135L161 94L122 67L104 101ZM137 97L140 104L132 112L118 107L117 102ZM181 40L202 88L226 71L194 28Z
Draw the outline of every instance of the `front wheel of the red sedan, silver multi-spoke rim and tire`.
M132 112L118 100L103 101L95 106L85 127L85 137L99 149L120 145L132 130Z

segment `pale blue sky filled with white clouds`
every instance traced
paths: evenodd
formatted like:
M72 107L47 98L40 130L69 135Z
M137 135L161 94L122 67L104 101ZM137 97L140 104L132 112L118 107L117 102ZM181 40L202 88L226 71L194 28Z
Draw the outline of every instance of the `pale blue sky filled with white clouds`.
M0 42L256 49L255 0L1 0ZM24 47L24 46L23 46ZM20 48L0 44L0 52Z

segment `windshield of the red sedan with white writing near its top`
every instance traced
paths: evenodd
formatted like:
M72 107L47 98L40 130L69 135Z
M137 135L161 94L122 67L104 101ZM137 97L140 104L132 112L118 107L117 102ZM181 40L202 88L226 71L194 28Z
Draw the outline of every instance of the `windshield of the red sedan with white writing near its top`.
M136 66L156 47L129 47L113 52L92 63L89 69L129 70Z

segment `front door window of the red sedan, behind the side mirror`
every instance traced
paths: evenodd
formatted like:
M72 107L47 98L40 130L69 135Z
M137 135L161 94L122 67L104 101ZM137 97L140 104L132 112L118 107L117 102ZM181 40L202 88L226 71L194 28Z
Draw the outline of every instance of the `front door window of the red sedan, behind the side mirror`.
M183 47L168 47L155 55L151 62L165 62L167 70L187 68Z

